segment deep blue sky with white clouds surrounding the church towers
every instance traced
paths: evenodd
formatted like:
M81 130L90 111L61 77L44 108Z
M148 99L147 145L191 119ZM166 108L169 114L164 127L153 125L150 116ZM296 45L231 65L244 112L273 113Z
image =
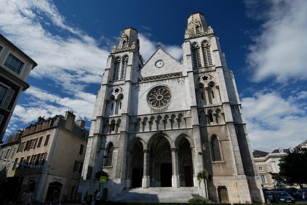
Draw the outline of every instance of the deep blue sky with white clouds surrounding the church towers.
M159 43L181 60L187 17L200 11L234 71L252 149L306 140L307 1L127 3L0 0L1 34L38 63L6 136L67 110L89 129L107 56L123 29L138 30L145 61Z

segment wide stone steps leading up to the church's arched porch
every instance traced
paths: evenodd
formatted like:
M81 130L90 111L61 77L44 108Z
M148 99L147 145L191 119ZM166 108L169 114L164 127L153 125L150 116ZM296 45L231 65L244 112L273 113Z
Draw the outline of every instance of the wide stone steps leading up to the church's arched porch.
M187 202L192 198L201 198L197 187L128 188L109 200L117 202Z

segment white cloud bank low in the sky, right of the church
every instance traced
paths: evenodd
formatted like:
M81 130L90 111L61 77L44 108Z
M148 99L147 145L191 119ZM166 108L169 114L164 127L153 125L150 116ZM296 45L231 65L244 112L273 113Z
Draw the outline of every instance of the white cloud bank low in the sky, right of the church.
M291 103L274 92L258 92L241 102L252 149L273 151L295 147L306 140L307 117L299 103Z

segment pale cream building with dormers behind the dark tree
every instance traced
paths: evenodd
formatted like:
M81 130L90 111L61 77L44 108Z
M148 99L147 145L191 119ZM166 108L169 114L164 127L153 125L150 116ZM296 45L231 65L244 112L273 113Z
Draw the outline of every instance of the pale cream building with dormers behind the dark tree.
M285 184L274 181L269 172L278 173L280 158L286 155L287 152L294 151L298 151L298 149L292 147L288 149L278 148L274 149L271 153L260 150L253 151L255 165L263 187L268 189L286 187Z

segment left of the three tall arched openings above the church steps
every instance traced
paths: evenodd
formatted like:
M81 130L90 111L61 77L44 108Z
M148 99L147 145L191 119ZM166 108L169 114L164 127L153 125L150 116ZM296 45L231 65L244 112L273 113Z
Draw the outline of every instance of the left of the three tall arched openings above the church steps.
M130 176L131 187L142 187L144 153L143 144L140 140L136 141L130 151Z

